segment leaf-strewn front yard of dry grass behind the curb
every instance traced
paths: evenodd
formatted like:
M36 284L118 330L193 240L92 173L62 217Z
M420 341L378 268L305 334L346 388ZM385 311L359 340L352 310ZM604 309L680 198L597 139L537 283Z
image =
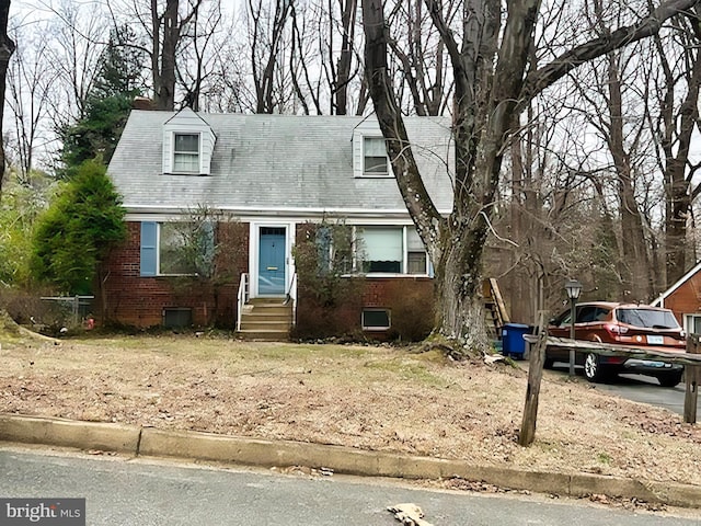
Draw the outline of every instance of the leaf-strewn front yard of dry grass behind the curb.
M505 364L208 335L55 343L5 333L0 343L4 413L701 485L700 425L549 371L536 442L524 448L527 374Z

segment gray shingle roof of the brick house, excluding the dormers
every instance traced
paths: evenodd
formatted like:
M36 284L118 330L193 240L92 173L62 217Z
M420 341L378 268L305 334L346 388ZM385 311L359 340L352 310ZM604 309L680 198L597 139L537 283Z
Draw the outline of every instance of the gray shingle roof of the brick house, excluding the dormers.
M202 114L217 137L211 174L202 176L163 173L162 126L171 117L136 110L129 116L108 169L128 211L197 205L234 213L405 211L393 179L354 178L352 137L364 117ZM436 206L449 211L450 122L409 117L405 125Z

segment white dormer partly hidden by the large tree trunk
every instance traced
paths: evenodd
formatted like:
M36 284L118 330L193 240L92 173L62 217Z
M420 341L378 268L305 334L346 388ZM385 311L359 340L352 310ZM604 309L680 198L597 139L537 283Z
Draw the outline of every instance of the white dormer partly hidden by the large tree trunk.
M392 178L384 137L375 117L353 130L353 174L356 178Z

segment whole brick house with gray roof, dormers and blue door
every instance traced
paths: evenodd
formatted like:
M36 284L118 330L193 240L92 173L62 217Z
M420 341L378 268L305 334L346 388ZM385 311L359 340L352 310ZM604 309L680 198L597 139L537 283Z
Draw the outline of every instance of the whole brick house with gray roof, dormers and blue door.
M450 123L405 124L425 184L448 214ZM415 324L401 319L410 316L433 324L432 264L372 116L135 110L108 174L129 239L103 268L106 322L217 323L273 338L295 324L306 335L310 324L382 334ZM341 294L332 300L301 281L296 263L298 244L311 240L319 268L307 275L329 271L334 241L324 225L343 225L352 240L344 267L333 270Z

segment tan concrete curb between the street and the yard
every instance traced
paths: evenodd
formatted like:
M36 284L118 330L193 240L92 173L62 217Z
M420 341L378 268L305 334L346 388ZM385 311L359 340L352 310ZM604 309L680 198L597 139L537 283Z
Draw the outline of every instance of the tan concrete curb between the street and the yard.
M701 487L675 482L525 471L462 460L365 451L343 446L264 441L212 433L0 414L0 441L101 449L258 467L306 466L336 473L403 479L460 477L487 484L568 496L605 494L681 507L701 507Z

